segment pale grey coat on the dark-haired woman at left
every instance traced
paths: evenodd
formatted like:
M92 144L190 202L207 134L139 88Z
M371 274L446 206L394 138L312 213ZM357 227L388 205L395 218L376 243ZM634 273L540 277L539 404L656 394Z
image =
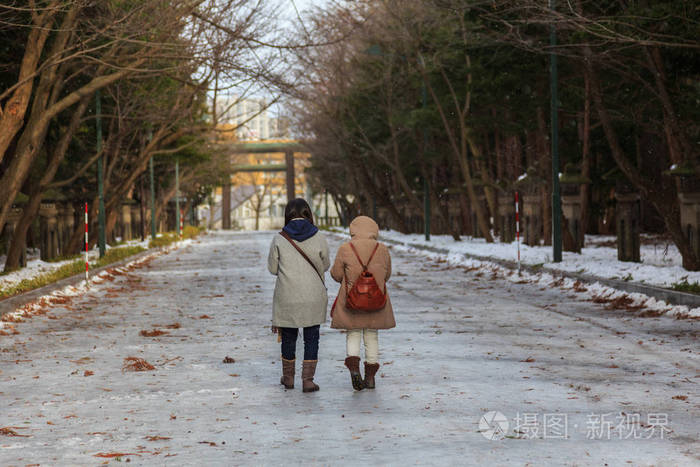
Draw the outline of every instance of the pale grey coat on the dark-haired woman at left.
M277 276L272 302L272 325L281 328L305 328L326 322L328 291L325 272L331 265L326 237L317 232L296 244L324 277L318 277L311 265L279 233L272 239L267 268Z

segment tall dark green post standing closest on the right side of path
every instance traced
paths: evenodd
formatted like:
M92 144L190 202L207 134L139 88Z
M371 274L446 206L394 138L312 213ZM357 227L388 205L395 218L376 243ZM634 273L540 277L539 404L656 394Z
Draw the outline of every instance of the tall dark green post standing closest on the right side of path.
M554 11L555 0L549 0L549 8ZM559 186L559 122L557 115L557 45L556 25L552 23L549 32L550 52L550 89L551 89L551 125L552 125L552 260L561 262L561 187Z

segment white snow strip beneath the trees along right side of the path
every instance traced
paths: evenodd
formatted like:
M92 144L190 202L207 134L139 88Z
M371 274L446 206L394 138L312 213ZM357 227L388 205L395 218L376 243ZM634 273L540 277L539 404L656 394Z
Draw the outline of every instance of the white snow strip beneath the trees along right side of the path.
M404 243L446 248L454 254L488 256L517 261L517 243L486 243L481 238L464 236L455 242L449 235L431 235L429 242L422 234L405 235L396 231L382 231L384 238ZM586 245L609 244L615 237L587 236ZM681 267L681 256L673 244L643 244L641 263L617 260L617 249L609 246L587 246L581 254L564 252L561 263L552 262L551 246L530 247L521 243L520 259L523 264L542 265L545 270L590 274L606 279L623 279L670 288L674 283L687 280L700 282L700 271L686 271Z

